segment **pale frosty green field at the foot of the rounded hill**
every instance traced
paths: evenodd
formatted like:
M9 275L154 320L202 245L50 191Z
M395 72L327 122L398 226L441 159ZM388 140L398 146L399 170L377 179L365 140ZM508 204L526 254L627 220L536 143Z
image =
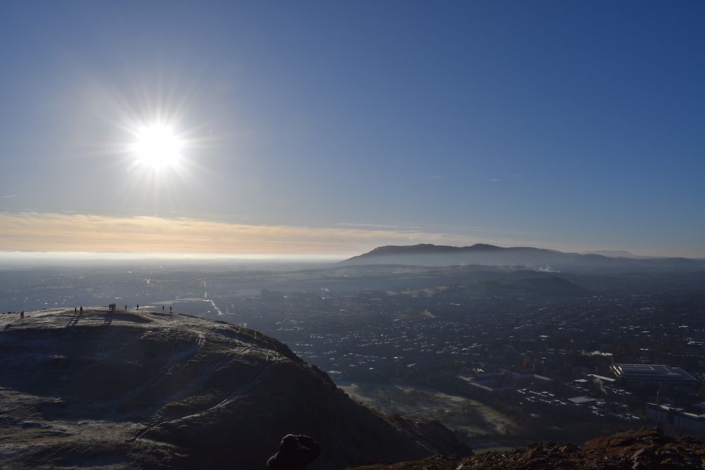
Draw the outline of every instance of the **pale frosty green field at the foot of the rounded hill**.
M505 414L476 400L429 388L384 383L340 382L354 400L388 414L437 419L470 436L504 435L517 425ZM501 446L497 446L501 447Z

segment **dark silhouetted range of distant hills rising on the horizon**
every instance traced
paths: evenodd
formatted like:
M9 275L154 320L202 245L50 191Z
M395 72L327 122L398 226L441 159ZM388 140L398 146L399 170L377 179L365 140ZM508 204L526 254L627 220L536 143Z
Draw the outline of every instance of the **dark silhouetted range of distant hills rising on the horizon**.
M497 247L478 243L470 247L444 245L388 245L341 261L343 266L361 264L400 264L411 266L525 266L545 271L699 271L705 260L686 258L647 258L564 253L533 247Z

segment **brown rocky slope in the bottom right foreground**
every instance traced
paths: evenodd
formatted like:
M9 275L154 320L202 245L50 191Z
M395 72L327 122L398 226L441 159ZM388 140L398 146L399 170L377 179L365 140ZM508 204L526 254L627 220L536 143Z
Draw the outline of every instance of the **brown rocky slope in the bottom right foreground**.
M416 462L368 465L355 470L651 470L705 468L705 445L672 438L658 428L625 431L572 444L538 443L510 452L466 458L430 457Z

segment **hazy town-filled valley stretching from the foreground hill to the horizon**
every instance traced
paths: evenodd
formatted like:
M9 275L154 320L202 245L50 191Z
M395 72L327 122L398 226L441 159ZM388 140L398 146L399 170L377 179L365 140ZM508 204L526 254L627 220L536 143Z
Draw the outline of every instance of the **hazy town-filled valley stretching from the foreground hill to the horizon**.
M705 271L139 261L7 268L0 286L6 321L114 303L245 326L475 452L654 423L705 435ZM686 380L625 380L615 364Z

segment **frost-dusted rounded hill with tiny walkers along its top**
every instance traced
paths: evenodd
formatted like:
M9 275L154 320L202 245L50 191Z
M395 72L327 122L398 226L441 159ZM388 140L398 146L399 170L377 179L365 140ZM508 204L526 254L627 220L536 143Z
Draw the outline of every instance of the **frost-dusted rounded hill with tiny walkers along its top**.
M350 400L286 345L161 311L0 315L4 469L262 469L288 434L321 447L309 469L470 450L436 422Z

